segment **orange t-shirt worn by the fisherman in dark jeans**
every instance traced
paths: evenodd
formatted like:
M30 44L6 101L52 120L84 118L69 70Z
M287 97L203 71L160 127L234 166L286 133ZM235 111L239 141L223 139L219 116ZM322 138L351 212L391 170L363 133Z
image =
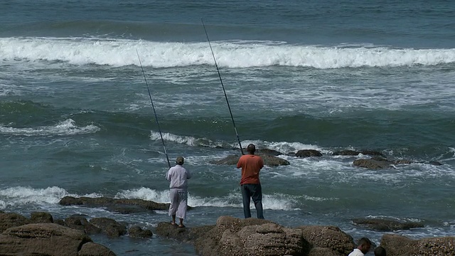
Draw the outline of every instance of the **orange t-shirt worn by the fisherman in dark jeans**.
M264 167L264 161L261 156L246 154L240 156L237 162L237 168L242 168L242 184L259 184L259 171Z

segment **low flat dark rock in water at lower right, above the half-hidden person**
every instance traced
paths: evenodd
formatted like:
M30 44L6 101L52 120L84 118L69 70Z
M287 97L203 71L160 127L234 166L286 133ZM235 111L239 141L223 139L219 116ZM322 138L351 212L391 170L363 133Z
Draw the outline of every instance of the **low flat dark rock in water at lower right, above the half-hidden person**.
M384 219L367 219L358 218L353 219L353 223L356 225L363 225L372 230L376 231L395 231L395 230L409 230L411 228L423 228L422 223L417 222L399 222L396 220L384 220Z

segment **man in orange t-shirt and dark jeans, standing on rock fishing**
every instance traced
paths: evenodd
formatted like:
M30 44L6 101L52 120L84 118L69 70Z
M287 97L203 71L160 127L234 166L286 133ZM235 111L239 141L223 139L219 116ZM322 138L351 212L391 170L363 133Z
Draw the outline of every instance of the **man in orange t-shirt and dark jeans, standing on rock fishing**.
M256 156L256 146L247 146L248 154L240 156L237 168L242 168L242 179L240 180L240 190L243 198L243 213L245 218L251 218L250 198L255 203L257 218L264 218L262 212L262 188L259 181L259 171L264 167L261 156Z

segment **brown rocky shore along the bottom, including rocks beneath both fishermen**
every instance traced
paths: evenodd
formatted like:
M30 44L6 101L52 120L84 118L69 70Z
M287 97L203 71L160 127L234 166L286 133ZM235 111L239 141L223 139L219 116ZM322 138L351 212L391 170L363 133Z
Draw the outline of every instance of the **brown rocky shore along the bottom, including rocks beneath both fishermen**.
M60 204L109 208L123 213L166 208L166 204L151 201L113 198L65 197ZM378 219L355 219L353 223L385 232L422 227L420 223ZM50 213L34 212L26 218L17 213L0 212L0 255L113 256L112 250L93 242L90 235L104 234L108 238L129 235L149 239L153 233L162 238L188 242L194 245L198 255L203 256L346 256L355 247L350 235L330 225L287 228L269 220L220 216L214 225L177 228L171 223L157 223L155 230L148 230L110 218L71 215L64 220L54 220ZM455 255L455 237L412 240L385 233L380 245L385 247L389 256Z

